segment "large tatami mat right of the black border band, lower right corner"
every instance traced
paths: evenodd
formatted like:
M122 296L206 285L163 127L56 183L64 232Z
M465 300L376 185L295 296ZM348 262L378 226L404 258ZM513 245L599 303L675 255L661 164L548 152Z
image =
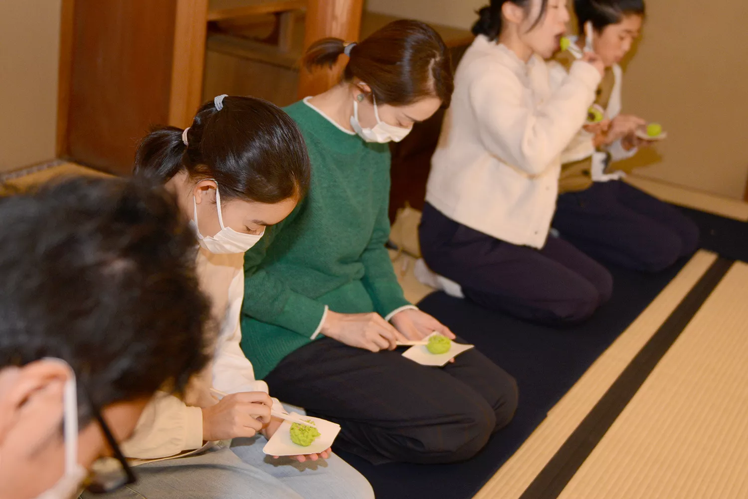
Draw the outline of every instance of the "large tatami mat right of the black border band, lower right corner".
M559 498L748 498L746 304L735 263Z

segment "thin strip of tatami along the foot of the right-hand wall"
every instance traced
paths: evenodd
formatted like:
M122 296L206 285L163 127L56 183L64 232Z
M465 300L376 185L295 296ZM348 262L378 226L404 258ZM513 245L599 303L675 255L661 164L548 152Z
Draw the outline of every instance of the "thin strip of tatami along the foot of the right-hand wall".
M722 198L708 192L693 191L646 177L637 177L637 175L628 175L626 182L668 203L726 218L748 221L748 203L741 200Z

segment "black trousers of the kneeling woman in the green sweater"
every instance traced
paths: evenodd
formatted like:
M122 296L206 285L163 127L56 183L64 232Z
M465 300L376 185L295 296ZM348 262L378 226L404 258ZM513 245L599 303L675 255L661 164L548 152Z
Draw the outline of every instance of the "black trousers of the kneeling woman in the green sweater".
M445 367L416 364L403 351L322 338L283 358L265 381L274 397L340 424L335 447L374 464L469 459L512 420L515 380L476 349Z

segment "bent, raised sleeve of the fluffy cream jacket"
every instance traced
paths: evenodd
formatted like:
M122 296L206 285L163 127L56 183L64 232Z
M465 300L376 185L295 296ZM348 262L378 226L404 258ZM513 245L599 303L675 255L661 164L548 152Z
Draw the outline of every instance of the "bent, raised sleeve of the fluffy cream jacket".
M534 97L512 70L482 70L469 99L483 144L503 162L542 174L583 126L600 80L595 67L576 61L548 100L528 106Z

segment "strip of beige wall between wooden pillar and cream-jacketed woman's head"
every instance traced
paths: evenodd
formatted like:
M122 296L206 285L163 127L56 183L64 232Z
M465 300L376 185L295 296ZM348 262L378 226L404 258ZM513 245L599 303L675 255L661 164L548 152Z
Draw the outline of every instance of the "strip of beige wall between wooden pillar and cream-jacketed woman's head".
M488 0L367 0L366 8L390 16L469 29L478 19L476 10Z

